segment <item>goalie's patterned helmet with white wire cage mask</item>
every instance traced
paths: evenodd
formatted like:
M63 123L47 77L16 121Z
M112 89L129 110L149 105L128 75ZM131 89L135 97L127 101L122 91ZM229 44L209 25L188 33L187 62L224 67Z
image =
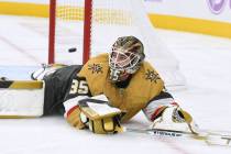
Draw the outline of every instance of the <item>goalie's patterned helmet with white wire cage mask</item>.
M144 47L134 36L119 37L109 54L110 79L121 81L124 74L134 74L144 59Z

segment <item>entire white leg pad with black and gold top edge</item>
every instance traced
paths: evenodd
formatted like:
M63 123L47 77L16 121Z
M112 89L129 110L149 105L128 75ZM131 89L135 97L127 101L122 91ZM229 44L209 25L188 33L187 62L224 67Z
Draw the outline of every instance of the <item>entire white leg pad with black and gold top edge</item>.
M0 80L0 118L34 118L43 114L43 81Z

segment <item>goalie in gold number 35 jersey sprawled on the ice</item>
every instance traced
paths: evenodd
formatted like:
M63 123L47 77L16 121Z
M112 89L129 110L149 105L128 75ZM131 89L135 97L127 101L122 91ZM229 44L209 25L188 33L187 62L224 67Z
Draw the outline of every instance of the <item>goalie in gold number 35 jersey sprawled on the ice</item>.
M191 117L174 102L144 58L141 41L123 36L109 54L98 55L84 66L50 65L34 72L33 79L45 81L44 114L63 112L70 125L95 133L120 132L120 122L141 110L156 122L173 109L174 122L190 124Z

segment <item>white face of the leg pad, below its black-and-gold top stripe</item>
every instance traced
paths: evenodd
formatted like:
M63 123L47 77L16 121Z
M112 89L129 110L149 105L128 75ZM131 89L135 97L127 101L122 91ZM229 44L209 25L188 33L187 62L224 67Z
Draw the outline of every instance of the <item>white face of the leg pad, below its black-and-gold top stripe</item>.
M0 88L0 118L41 117L44 106L41 88Z

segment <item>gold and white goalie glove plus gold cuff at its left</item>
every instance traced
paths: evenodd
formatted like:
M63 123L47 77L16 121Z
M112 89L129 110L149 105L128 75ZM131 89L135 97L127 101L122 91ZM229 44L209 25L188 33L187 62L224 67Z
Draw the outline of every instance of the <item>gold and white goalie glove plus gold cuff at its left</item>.
M108 106L107 102L105 96L81 99L68 110L66 119L70 125L77 129L89 128L97 134L122 132L121 110Z

